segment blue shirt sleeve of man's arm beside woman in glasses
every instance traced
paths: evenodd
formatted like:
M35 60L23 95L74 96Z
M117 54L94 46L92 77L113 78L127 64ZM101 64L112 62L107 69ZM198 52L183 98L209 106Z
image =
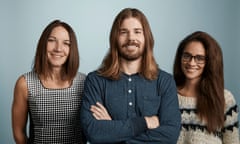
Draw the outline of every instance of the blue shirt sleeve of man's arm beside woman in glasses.
M147 130L143 134L134 137L127 143L136 144L176 144L181 128L181 114L179 110L177 89L173 77L166 73L160 73L162 77L158 82L158 91L161 96L161 104L158 117L160 126L153 130Z

